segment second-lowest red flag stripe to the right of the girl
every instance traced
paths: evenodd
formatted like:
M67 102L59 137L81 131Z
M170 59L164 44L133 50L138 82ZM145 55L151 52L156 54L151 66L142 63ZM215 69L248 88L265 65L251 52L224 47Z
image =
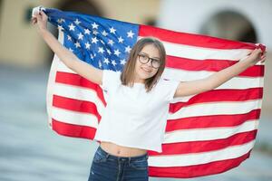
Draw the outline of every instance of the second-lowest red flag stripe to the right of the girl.
M149 150L150 156L180 155L190 153L201 153L247 144L254 140L257 135L257 129L248 132L242 132L230 136L229 138L220 138L215 140L188 141L179 143L162 144L162 152L158 153Z

